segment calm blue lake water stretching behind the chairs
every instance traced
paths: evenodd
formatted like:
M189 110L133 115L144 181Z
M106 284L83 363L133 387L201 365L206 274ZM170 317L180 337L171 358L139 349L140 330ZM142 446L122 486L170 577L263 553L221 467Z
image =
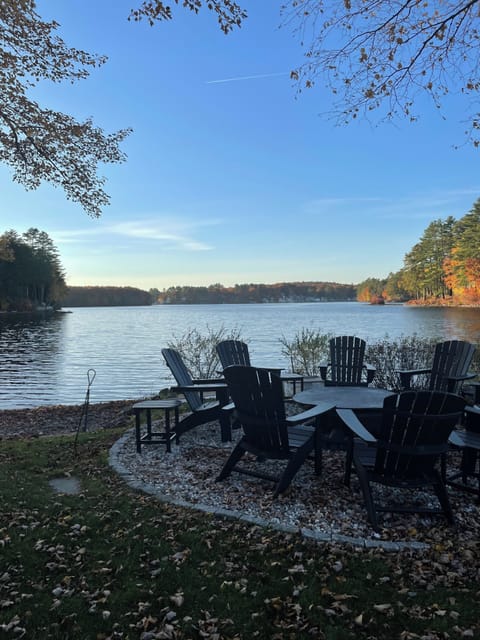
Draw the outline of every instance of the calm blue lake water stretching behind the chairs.
M67 311L67 310L65 310ZM190 328L235 328L258 366L288 368L279 338L303 328L368 341L418 335L480 342L480 309L357 302L75 308L0 316L0 408L140 398L172 384L161 349Z

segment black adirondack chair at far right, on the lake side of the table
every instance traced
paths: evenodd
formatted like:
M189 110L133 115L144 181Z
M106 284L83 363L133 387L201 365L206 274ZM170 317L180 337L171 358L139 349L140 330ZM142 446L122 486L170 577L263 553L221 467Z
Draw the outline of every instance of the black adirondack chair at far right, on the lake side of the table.
M462 340L439 342L435 346L431 367L397 371L401 389L410 389L414 376L428 375L430 391L459 393L465 380L476 377L476 374L468 372L474 353L475 346L470 342Z

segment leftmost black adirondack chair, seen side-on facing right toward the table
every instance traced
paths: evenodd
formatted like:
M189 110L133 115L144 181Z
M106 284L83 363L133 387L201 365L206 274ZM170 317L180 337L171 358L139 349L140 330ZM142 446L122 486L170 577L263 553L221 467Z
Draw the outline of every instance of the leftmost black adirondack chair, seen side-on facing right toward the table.
M191 413L180 420L178 436L206 422L218 420L222 442L232 439L230 413L223 407L228 403L228 388L224 381L193 380L182 356L175 349L162 349L168 368L177 382L173 390L183 393ZM203 393L215 392L215 401L203 401Z

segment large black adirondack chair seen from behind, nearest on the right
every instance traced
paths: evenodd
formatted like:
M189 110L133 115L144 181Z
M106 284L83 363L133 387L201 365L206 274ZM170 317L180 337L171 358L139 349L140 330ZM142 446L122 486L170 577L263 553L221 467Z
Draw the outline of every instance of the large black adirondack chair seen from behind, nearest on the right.
M465 400L442 391L405 391L387 397L378 437L374 437L349 409L337 414L354 434L347 455L346 483L353 461L365 500L368 518L379 530L377 512L444 513L454 517L445 487L442 458L449 450L448 439L462 418ZM438 468L440 466L440 468ZM400 489L433 488L440 509L417 505L376 504L372 483Z

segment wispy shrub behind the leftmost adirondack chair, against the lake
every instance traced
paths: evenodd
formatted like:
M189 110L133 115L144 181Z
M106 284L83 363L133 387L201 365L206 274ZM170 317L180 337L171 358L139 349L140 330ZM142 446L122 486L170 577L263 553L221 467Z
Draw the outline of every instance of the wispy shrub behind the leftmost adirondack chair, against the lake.
M203 333L190 327L184 333L174 335L167 346L179 352L192 378L218 378L221 366L215 347L222 340L244 341L238 328L227 330L222 325L212 329L207 325Z

